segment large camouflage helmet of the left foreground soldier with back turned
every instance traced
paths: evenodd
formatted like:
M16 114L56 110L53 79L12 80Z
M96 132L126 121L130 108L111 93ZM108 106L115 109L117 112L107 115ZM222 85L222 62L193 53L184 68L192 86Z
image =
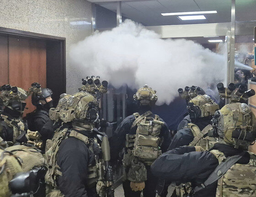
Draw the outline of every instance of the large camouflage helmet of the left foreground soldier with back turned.
M56 108L49 111L50 119L63 122L80 121L93 123L98 119L98 102L87 92L78 92L72 95L62 94Z

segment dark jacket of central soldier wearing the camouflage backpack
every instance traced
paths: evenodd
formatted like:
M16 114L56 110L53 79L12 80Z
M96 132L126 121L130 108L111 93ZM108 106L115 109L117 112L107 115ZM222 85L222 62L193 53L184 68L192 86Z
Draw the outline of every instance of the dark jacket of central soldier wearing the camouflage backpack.
M138 113L143 114L146 111L148 111L148 109L142 109ZM149 116L155 118L154 114L151 114ZM131 135L136 134L137 126L134 126L133 128L131 128L134 120L135 120L134 115L128 116L121 122L121 124L118 125L117 129L115 130L114 135L112 136L112 139L111 139L111 158L112 158L111 160L112 161L117 160L119 152L125 146L126 134L131 134ZM163 121L162 119L160 120ZM166 123L162 126L159 136L163 137L164 139L160 149L162 150L162 152L165 152L168 149L171 143L171 138L172 138Z

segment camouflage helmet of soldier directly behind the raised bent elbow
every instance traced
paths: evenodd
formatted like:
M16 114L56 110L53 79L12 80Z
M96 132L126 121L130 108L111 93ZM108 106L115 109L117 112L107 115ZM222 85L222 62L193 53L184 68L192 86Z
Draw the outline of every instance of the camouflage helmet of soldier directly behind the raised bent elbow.
M215 111L219 110L219 105L207 94L204 94L190 99L187 103L187 109L191 121L195 122L198 118L214 115Z

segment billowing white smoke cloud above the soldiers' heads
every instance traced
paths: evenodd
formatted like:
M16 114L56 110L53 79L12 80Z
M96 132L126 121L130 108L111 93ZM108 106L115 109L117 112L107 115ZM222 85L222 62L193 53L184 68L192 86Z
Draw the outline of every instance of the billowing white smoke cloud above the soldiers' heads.
M74 81L99 75L117 88L148 84L157 91L157 104L169 104L178 95L178 88L206 88L208 83L223 82L226 73L224 55L193 41L161 39L130 20L85 38L71 48L69 55L73 75L77 76Z

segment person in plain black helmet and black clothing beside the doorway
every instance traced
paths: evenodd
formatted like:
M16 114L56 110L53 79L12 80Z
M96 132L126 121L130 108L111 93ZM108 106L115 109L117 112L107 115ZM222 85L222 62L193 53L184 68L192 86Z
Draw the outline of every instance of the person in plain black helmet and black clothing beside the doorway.
M52 94L53 92L49 88L41 88L40 93L33 92L31 100L37 109L26 116L28 129L38 131L42 135L41 139L44 143L53 137L54 131L54 122L49 118L49 109L53 107Z

